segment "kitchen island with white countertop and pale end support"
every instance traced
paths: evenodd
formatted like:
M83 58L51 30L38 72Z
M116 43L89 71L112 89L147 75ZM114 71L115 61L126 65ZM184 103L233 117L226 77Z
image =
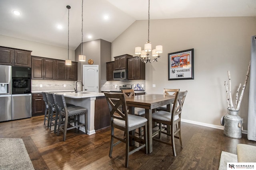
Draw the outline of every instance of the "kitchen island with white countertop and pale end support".
M54 92L55 94L63 94L65 97L66 103L74 104L75 106L85 107L88 110L87 113L87 134L92 135L95 133L95 101L96 98L104 99L104 93L98 92ZM104 99L105 100L105 99ZM109 116L109 110L106 108L107 113L102 114L106 117ZM108 120L108 119L107 119ZM80 116L80 121L84 123L84 116ZM109 118L110 121L110 118ZM110 125L110 123L109 123ZM84 127L80 127L80 130L85 132Z

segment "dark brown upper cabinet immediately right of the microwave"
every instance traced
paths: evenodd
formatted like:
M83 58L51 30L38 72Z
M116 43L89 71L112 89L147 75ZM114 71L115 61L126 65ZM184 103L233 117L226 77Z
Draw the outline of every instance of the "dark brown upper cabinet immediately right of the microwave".
M128 80L145 80L145 63L137 57L128 59Z

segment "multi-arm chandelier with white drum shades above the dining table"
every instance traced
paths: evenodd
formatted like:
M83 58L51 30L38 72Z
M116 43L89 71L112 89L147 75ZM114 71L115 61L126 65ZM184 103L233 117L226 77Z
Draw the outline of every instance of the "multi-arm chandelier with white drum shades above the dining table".
M157 59L160 58L159 54L163 52L162 45L156 45L156 48L152 50L152 45L149 40L149 1L150 0L148 0L148 41L144 45L144 50L141 50L141 47L135 47L135 54L138 55L137 57L144 63L153 63L154 61L157 61ZM154 59L150 59L150 51L152 51L152 57L154 57Z

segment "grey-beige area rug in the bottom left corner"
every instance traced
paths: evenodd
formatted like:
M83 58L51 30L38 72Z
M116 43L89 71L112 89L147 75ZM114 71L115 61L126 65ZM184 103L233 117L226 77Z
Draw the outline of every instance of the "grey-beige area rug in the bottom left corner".
M22 139L0 139L0 170L34 170Z

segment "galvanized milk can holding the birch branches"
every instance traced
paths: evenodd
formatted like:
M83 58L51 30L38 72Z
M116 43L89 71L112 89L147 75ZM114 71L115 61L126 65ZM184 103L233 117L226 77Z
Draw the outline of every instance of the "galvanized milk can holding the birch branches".
M224 135L232 138L242 138L242 119L238 115L239 110L230 110L222 116L220 124L224 126Z

